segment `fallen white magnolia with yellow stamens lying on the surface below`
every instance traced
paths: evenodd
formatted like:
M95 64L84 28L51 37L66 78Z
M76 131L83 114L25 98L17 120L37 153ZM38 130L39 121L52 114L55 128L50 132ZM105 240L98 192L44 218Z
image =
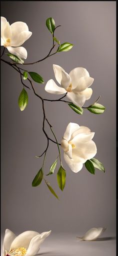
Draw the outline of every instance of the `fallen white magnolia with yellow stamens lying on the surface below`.
M50 232L51 230L39 234L35 231L25 231L16 236L12 231L6 229L3 239L3 255L34 256Z

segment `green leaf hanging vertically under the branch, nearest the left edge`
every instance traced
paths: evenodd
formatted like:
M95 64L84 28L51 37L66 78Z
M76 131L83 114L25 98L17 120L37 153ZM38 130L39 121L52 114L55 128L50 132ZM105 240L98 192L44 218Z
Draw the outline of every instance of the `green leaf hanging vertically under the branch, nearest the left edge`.
M26 90L23 88L18 97L18 105L19 105L19 108L21 111L24 110L27 103L28 103L28 94L27 94Z

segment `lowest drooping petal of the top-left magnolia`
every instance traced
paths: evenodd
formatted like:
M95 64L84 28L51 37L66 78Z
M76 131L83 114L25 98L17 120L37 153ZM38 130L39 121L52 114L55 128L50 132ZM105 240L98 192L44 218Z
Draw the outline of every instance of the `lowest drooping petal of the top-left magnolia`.
M11 53L11 54L14 54L20 58L27 58L27 51L24 47L20 46L20 47L10 47L10 46L7 46L6 47L7 50Z

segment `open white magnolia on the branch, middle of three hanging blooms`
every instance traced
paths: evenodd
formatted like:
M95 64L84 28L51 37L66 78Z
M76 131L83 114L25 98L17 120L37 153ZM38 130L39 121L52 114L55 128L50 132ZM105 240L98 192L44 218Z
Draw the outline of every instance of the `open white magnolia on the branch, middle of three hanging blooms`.
M59 87L56 83L50 79L45 85L45 90L49 93L63 94L76 105L82 106L86 99L89 99L92 94L92 89L89 87L93 78L89 76L88 71L83 67L75 67L69 74L59 66L53 64L53 71L55 79L61 85Z

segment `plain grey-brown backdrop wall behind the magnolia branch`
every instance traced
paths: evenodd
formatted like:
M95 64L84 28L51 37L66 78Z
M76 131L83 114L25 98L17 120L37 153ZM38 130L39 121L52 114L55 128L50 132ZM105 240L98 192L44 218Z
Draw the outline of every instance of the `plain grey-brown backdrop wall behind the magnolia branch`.
M45 26L47 17L52 16L56 25L61 24L55 31L61 43L68 41L74 44L68 52L57 53L25 68L38 72L46 83L50 78L55 80L53 63L62 66L67 72L77 66L85 67L90 76L94 77L94 82L91 85L93 94L84 106L93 103L101 95L99 103L106 107L101 115L92 114L88 110L84 110L83 115L77 115L66 103L45 102L45 113L58 141L68 122L88 126L95 132L95 157L105 166L105 173L96 170L95 175L91 175L84 167L74 173L63 160L67 170L63 192L57 186L56 171L47 179L58 194L58 201L44 182L39 187L31 186L42 164L42 158L35 158L35 155L41 154L46 146L42 132L41 102L32 90L27 89L28 105L21 112L17 104L22 89L20 77L10 66L1 64L2 232L5 228L17 233L51 229L50 237L53 237L54 232L82 235L91 227L106 226L107 234L115 235L115 5L115 1L1 2L1 16L6 17L10 24L24 21L32 31L32 36L22 45L28 52L25 62L44 57L51 48L51 34ZM8 58L5 56L5 59ZM34 82L34 87L43 97L59 98L45 92L44 84ZM48 127L46 130L52 136ZM45 173L48 173L57 153L56 145L50 142ZM58 167L59 163L56 170ZM104 246L106 248L108 245ZM114 255L113 249L109 250L109 255ZM88 252L87 248L84 255L88 255ZM98 255L105 253L107 251L102 248L98 251Z

